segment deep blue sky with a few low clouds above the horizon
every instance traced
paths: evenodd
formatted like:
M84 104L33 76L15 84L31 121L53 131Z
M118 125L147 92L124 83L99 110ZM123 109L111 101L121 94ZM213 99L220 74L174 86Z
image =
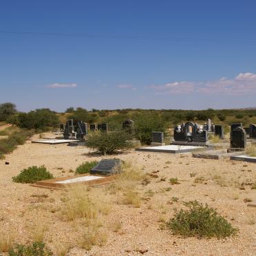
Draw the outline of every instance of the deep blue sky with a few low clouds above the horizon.
M256 1L1 1L0 103L256 106Z

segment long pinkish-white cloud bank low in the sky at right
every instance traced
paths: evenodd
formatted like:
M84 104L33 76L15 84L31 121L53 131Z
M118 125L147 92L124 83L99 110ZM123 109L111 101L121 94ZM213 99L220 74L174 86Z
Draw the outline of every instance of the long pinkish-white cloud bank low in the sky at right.
M256 74L240 73L235 78L222 77L216 81L174 82L166 85L151 85L156 94L250 94L256 93Z

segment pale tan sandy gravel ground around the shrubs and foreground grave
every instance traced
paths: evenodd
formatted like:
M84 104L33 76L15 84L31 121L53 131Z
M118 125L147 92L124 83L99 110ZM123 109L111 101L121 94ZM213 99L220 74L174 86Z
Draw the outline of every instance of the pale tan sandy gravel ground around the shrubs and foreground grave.
M115 157L132 160L147 173L159 171L158 177L151 178L147 186L138 186L141 197L147 200L142 200L140 208L134 208L117 204L115 196L108 195L111 211L103 224L107 243L89 251L78 248L76 241L80 233L77 228L63 221L59 211L54 211L61 206L63 192L17 184L12 182L12 176L23 168L43 164L55 177L74 175L70 169L75 170L86 160L103 158L89 156L88 152L86 147L40 145L28 141L7 155L6 160L0 160L0 231L14 235L17 243L31 242L35 220L39 221L48 227L45 242L55 253L56 246L73 244L68 255L140 255L140 250L147 250L145 255L255 255L256 208L248 207L244 202L245 198L256 201L255 190L249 185L241 190L240 184L255 182L256 164L133 150ZM6 161L10 164L6 165ZM191 177L191 173L196 173L195 177ZM215 176L219 178L216 180ZM180 184L171 185L169 178L176 177ZM195 183L198 177L204 177L204 182ZM167 179L160 181L160 178ZM163 191L169 186L170 191ZM151 197L146 196L150 189L154 192ZM39 200L32 195L47 197ZM172 197L179 198L178 202L170 204ZM189 200L198 200L217 209L239 228L237 236L228 239L183 238L162 230L160 219L168 220L175 209L182 207L182 201ZM111 228L116 220L122 222L117 233Z

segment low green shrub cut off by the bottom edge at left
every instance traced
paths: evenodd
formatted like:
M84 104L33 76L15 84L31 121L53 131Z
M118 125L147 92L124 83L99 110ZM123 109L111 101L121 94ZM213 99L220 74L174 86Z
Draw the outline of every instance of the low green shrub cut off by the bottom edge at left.
M28 246L17 244L9 250L10 256L49 256L53 255L52 251L45 247L43 242L34 242Z

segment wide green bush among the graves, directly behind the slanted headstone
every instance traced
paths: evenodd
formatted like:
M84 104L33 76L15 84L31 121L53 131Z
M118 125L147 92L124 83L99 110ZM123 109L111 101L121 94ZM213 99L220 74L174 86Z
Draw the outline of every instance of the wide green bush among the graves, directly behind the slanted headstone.
M111 154L118 149L131 147L129 135L125 131L93 132L87 137L86 147L97 149L102 154Z

